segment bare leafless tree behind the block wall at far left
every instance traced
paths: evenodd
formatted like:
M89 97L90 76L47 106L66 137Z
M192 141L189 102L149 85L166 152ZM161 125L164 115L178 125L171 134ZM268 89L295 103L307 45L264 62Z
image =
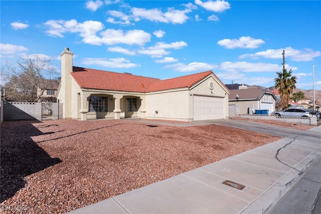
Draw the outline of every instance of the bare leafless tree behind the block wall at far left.
M9 101L37 102L51 81L57 81L52 79L55 70L48 57L38 55L21 57L15 66L7 62L1 68L5 79L2 91L5 89Z

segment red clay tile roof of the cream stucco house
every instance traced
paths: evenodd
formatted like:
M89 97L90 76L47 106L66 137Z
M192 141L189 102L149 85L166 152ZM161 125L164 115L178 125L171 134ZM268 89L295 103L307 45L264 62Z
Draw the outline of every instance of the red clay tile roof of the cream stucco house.
M190 88L192 85L212 73L213 71L206 71L160 80L126 73L117 73L73 66L73 72L71 75L81 88L150 92L184 87Z

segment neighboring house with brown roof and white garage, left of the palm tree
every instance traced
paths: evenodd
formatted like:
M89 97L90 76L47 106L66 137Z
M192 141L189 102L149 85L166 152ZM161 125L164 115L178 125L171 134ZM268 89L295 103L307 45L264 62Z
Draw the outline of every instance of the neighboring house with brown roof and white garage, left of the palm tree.
M275 111L276 97L271 91L261 88L246 88L230 90L229 104L239 105L239 114L253 114L255 110Z

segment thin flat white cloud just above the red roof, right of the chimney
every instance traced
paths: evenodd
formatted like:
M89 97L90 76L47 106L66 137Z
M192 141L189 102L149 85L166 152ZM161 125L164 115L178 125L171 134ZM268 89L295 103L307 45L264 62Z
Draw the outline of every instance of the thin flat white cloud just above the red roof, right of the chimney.
M124 58L85 58L82 61L85 65L100 65L110 68L133 68L140 66L139 64L130 63L129 60Z

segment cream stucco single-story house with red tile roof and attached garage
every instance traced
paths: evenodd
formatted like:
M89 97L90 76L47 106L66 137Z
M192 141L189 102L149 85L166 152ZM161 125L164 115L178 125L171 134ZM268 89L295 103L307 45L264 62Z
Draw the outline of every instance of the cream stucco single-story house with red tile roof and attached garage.
M212 72L160 80L74 67L61 54L57 99L64 119L145 118L198 121L228 118L229 90Z

